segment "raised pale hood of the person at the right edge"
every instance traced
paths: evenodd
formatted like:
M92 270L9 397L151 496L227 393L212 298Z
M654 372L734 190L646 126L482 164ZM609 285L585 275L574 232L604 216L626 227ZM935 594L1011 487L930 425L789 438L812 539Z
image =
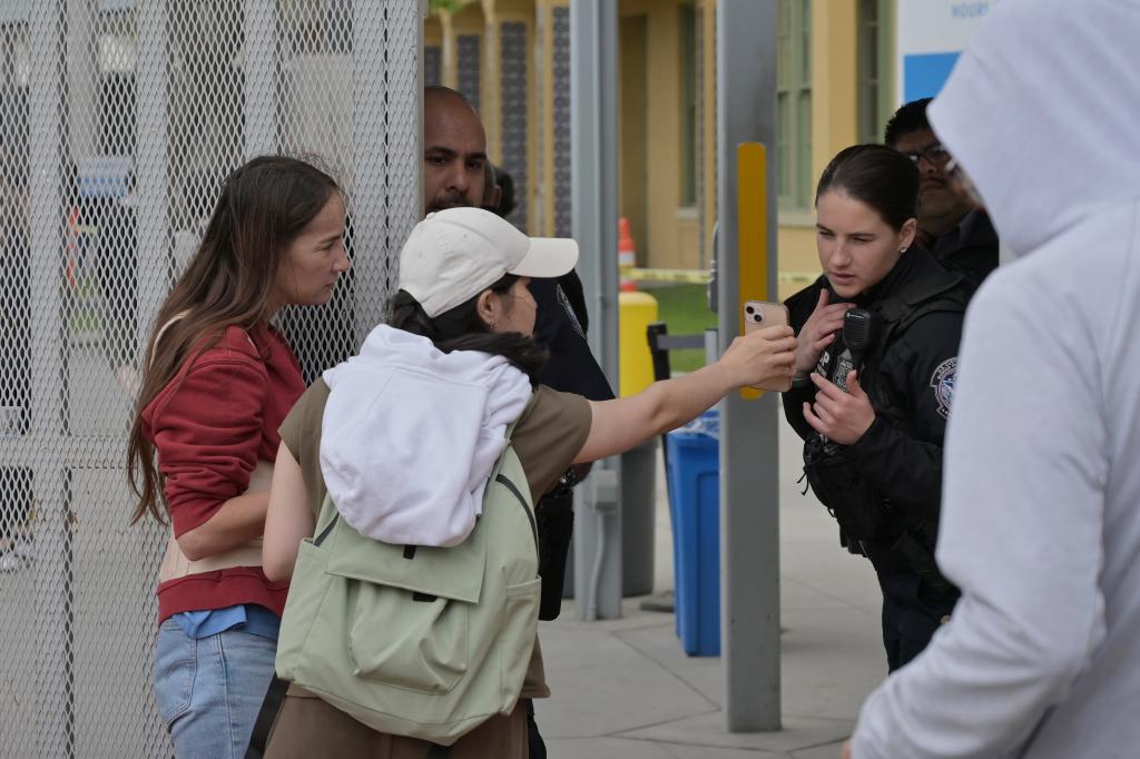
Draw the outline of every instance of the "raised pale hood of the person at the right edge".
M1140 196L1138 22L1134 0L1003 0L930 104L1016 254Z

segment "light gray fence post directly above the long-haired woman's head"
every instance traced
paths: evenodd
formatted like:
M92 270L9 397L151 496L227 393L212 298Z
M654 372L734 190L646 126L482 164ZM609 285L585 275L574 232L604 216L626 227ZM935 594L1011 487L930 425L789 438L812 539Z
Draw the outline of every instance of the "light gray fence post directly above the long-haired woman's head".
M245 0L245 157L277 150L277 1Z

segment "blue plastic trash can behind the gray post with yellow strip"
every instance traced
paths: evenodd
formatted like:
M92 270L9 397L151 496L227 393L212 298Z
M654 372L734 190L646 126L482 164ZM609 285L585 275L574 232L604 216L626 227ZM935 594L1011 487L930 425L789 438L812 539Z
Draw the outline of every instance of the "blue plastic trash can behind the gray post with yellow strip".
M674 611L691 656L720 655L720 419L716 409L670 432Z

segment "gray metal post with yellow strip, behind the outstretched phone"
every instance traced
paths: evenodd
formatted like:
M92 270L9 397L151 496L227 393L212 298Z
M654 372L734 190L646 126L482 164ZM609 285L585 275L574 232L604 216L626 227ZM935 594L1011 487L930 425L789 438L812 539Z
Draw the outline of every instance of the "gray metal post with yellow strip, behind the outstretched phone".
M776 3L717 3L717 212L720 348L740 334L738 160L768 148L767 281L776 292ZM779 398L720 406L720 640L724 713L732 732L780 729Z

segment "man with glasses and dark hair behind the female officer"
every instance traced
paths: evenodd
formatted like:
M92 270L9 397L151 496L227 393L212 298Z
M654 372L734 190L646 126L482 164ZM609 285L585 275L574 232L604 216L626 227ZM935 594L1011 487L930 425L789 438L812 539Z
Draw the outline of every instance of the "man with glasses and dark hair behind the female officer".
M951 155L927 121L930 98L907 103L887 122L883 141L913 161L922 177L918 240L974 288L997 268L997 234L985 209L951 181Z

